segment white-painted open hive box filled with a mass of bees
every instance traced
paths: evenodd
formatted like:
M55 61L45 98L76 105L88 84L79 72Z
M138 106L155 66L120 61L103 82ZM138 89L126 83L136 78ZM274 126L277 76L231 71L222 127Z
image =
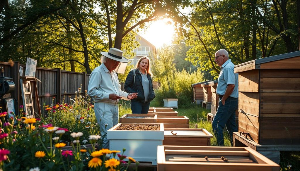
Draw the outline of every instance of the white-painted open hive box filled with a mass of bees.
M121 125L160 125L159 131L131 131L117 130ZM126 148L125 155L136 161L152 162L157 165L157 146L163 144L163 123L118 123L107 131L107 139L110 141L110 150L122 152Z

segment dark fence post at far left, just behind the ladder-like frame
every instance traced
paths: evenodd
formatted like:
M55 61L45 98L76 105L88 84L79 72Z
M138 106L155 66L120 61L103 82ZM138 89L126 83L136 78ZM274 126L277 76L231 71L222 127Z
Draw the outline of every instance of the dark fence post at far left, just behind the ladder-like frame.
M19 75L19 67L20 67L20 63L18 61L14 62L13 68L12 68L12 73L11 73L11 77L13 78L13 82L15 83L15 90L13 91L13 97L16 98L17 100L17 109L19 109L20 106L20 99L21 99L21 92L20 92L20 75ZM25 72L25 68L24 71ZM16 110L19 111L19 110Z

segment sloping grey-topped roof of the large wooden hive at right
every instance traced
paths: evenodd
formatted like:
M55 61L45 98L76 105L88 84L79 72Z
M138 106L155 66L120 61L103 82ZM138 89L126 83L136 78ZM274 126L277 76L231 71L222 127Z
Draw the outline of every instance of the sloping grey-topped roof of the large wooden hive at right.
M259 59L251 60L251 61L248 61L245 63L241 63L241 64L234 66L234 72L237 73L237 72L243 72L243 71L248 71L248 70L252 70L252 69L273 69L273 68L267 68L267 67L262 67L262 66L265 63L275 62L278 60L283 61L283 60L293 58L293 57L300 57L300 51L259 58ZM294 63L294 64L296 65L296 63ZM274 67L274 69L277 69L277 68L278 68L278 66ZM279 67L278 69L283 69L283 68L284 68L284 66ZM292 68L290 68L290 69L292 69Z

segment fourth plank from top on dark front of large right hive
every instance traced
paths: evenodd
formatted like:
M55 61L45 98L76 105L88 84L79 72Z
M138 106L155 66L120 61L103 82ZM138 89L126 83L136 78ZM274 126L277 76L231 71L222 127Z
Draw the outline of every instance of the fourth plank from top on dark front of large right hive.
M300 103L261 103L261 114L297 114Z

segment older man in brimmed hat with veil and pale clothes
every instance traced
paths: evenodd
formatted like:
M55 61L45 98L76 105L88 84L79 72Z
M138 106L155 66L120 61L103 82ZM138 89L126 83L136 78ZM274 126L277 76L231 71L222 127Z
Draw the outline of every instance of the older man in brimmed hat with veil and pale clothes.
M101 52L102 64L95 68L89 76L88 95L95 102L94 111L103 134L119 121L119 99L130 100L137 98L137 93L126 93L121 90L116 68L120 69L122 63L128 63L128 59L122 57L123 51L110 48L108 52ZM123 65L123 70L126 65ZM122 70L122 69L121 69ZM107 137L103 137L103 148L109 149Z

